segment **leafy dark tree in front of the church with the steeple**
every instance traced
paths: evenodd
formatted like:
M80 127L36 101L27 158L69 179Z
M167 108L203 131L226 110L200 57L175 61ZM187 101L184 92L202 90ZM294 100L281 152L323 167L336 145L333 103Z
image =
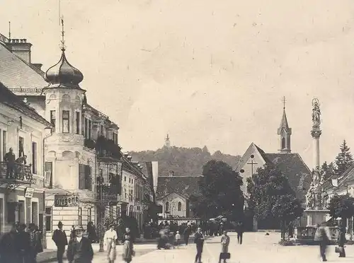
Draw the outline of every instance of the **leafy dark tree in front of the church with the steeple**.
M258 221L278 221L282 227L282 237L288 223L302 216L301 202L287 178L273 164L266 164L257 173L247 178L249 209Z

